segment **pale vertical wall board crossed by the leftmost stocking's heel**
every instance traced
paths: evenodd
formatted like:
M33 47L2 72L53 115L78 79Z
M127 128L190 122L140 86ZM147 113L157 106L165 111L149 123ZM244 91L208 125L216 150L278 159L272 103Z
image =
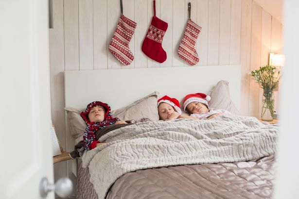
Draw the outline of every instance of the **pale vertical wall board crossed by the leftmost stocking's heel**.
M116 30L117 23L121 16L121 4L119 0L107 0L107 44L109 45ZM107 51L108 69L121 69L121 63Z

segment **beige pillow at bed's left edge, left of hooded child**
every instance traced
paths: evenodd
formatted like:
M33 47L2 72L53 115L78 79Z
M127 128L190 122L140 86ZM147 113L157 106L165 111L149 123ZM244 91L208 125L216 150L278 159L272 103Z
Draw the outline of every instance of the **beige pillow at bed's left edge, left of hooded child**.
M80 113L77 109L72 107L64 108L67 112L67 120L70 127L71 136L76 139L83 135L87 125L85 124L83 118L80 116Z

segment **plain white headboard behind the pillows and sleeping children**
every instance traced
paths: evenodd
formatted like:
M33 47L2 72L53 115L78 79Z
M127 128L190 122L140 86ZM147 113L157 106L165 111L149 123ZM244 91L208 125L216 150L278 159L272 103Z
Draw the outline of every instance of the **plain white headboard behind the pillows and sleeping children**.
M190 93L208 93L220 80L229 82L229 92L240 108L241 66L184 66L111 70L65 71L65 106L83 110L95 100L118 109L154 91L180 102ZM66 123L67 150L74 139ZM75 164L68 164L75 173Z

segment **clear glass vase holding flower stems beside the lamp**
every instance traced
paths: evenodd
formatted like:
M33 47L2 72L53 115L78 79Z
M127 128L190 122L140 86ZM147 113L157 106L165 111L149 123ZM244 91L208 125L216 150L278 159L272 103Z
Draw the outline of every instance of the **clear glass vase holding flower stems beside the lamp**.
M264 121L272 121L274 117L274 96L273 90L264 90L262 102L262 116Z

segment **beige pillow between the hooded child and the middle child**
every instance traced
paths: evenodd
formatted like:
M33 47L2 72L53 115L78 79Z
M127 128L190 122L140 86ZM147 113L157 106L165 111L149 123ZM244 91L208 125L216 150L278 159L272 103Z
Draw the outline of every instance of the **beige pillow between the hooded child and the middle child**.
M159 93L155 91L126 107L111 111L111 114L113 117L118 117L121 120L138 120L142 117L148 117L152 121L158 121L158 95Z

